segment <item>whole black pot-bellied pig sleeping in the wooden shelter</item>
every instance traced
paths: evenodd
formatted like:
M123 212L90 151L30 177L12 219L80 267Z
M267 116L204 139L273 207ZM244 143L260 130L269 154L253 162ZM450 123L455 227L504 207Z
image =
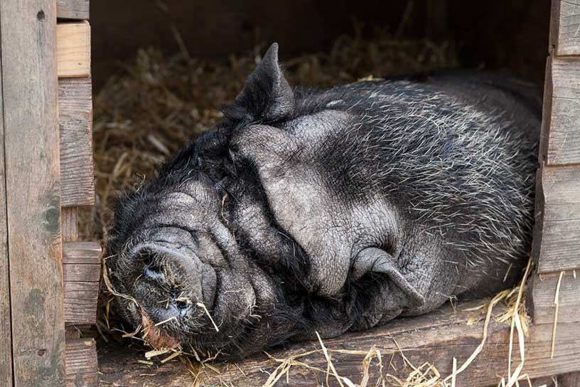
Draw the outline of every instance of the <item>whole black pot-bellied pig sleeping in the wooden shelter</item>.
M535 90L475 72L294 90L277 56L117 208L110 283L151 344L245 356L517 280Z

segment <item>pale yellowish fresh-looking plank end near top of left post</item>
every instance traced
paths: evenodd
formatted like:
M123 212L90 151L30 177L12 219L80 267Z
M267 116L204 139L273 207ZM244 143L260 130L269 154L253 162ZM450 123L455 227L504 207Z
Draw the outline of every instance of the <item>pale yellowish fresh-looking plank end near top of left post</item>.
M58 77L90 76L90 25L59 23L56 28Z

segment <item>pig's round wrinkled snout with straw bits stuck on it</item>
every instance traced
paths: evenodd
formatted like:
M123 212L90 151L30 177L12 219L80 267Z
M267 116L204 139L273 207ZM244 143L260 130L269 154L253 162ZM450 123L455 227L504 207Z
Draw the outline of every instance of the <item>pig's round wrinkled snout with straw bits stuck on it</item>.
M215 271L187 248L171 243L146 243L136 248L135 260L148 294L141 300L155 322L190 318L198 304L215 299ZM137 284L139 286L139 284Z

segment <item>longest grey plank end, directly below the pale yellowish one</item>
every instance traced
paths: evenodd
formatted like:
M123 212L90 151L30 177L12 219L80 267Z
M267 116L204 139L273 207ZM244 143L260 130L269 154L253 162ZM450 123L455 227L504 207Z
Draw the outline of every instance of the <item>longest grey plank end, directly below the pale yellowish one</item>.
M62 206L92 206L92 90L90 78L58 80Z

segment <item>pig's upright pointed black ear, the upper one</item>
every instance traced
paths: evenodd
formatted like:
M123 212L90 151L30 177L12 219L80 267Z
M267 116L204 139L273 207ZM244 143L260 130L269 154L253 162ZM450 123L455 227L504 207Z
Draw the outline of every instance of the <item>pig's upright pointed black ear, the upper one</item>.
M294 107L294 92L278 64L278 43L274 43L225 115L237 120L274 122L293 115Z

